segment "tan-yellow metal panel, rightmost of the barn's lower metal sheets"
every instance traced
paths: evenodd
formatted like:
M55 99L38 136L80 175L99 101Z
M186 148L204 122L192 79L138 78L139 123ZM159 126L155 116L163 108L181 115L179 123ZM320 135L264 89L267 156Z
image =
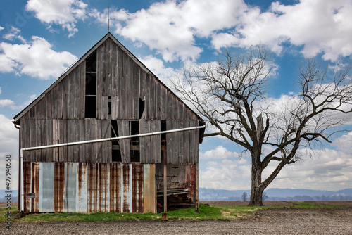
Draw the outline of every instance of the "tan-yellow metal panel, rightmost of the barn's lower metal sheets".
M143 211L156 213L155 164L143 165Z

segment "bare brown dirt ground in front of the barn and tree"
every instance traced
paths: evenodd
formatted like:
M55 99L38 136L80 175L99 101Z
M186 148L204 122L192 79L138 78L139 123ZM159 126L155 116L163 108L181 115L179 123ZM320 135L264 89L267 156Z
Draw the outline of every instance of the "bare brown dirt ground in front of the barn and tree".
M209 205L246 205L243 202L203 202ZM319 202L322 204L322 202ZM258 210L249 220L15 223L0 234L352 234L352 202L342 209L293 209L289 202L265 202L287 208ZM1 206L1 205L0 205Z

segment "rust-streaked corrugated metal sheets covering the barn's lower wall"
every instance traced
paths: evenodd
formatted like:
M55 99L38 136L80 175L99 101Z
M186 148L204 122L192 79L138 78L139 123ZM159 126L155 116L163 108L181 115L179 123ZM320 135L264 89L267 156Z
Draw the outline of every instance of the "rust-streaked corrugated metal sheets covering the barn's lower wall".
M153 164L26 162L24 176L25 212L155 212Z

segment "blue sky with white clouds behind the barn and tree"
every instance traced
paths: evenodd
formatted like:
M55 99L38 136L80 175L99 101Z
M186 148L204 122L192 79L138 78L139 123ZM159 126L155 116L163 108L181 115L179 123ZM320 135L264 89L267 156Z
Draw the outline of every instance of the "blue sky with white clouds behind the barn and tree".
M268 46L275 75L268 95L296 91L298 63L351 63L350 0L88 1L3 0L0 3L0 169L13 157L17 189L18 130L11 120L77 58L110 31L165 84L189 63L218 61L225 48L241 53ZM351 117L349 120L351 121ZM351 124L352 122L348 122ZM351 127L348 125L347 127ZM284 169L271 188L338 190L352 186L352 132ZM220 137L200 146L200 186L250 189L250 159ZM0 189L4 188L3 171ZM264 173L265 176L265 173Z

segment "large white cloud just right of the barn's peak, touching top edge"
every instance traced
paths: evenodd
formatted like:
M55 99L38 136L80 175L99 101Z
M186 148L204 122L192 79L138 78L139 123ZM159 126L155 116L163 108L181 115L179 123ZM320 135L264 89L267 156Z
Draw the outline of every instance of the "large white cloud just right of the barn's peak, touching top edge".
M232 27L245 10L246 4L240 0L166 1L136 13L113 10L110 18L115 32L155 49L165 61L194 61L202 52L196 37L209 37L215 30ZM91 15L107 23L107 11L94 10Z

